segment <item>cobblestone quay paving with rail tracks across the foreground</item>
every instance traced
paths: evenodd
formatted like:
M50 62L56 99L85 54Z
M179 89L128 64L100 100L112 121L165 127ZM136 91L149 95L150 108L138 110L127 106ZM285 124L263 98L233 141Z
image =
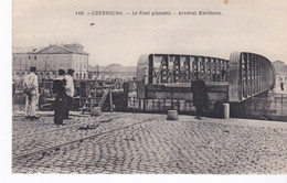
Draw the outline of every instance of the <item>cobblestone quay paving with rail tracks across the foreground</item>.
M286 122L166 118L166 115L115 112L97 118L73 116L65 120L65 126L55 126L52 116L34 121L14 116L12 171L287 173ZM43 150L53 146L54 149ZM31 152L35 153L28 155Z

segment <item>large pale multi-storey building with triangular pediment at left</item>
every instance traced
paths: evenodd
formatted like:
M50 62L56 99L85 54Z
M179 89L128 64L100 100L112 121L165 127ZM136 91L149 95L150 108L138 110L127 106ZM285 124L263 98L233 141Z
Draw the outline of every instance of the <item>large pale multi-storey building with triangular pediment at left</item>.
M21 78L29 73L31 66L36 67L39 79L55 78L60 68L75 71L75 79L88 77L88 53L81 44L49 45L32 51L13 51L13 77Z

